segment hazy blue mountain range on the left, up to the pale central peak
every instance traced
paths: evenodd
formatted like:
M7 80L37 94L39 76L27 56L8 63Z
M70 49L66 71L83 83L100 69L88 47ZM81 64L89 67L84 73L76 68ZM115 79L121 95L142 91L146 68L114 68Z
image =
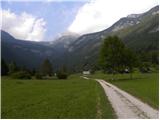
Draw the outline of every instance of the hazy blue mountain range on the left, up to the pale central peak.
M30 69L38 68L42 61L48 58L57 70L62 62L66 64L66 60L61 58L66 56L70 42L76 39L75 34L65 34L51 42L33 42L15 39L1 30L1 55L7 63L15 61L19 66Z

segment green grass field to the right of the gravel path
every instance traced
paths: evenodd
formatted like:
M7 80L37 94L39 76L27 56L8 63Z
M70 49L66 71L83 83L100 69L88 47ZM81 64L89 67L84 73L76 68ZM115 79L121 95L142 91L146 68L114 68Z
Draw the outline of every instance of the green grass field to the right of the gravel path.
M105 79L119 88L129 92L130 94L140 98L142 101L150 104L158 109L159 106L159 75L158 73L134 73L133 79L130 79L129 74L116 74L115 80L112 75L96 73L92 78Z

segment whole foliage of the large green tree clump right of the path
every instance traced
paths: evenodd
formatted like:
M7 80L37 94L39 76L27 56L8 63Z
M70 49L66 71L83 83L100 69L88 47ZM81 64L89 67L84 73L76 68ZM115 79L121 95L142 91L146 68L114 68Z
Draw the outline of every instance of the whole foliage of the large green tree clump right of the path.
M104 39L99 55L99 64L104 71L116 73L123 72L125 68L132 71L135 62L135 54L118 37Z

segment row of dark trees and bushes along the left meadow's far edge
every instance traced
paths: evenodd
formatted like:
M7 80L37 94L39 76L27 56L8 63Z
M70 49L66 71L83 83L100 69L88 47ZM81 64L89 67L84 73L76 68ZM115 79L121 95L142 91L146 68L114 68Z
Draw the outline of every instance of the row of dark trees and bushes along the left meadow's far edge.
M56 76L58 79L67 79L68 72L65 65L63 65L58 71L54 72L53 65L49 59L45 59L40 67L35 70L29 70L25 66L19 67L15 62L7 64L4 59L1 60L1 75L9 75L12 78L18 79L31 79L34 76L36 79L46 79Z

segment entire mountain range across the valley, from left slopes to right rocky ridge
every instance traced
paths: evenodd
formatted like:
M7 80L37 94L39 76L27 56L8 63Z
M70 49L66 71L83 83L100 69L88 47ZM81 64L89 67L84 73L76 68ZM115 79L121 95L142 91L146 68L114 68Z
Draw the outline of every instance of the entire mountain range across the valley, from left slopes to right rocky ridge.
M126 46L137 52L158 51L159 6L121 18L100 32L82 36L62 34L49 42L17 40L1 31L2 58L8 63L15 61L29 68L37 68L43 59L49 58L54 69L65 64L72 71L81 70L85 64L96 64L100 45L110 35L119 36Z

